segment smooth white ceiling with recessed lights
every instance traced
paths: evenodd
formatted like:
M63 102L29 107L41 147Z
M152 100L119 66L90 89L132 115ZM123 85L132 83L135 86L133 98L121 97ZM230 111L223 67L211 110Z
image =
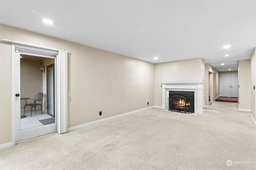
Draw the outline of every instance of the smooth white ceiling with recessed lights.
M256 47L255 0L0 0L0 23L152 63L203 58L218 71Z

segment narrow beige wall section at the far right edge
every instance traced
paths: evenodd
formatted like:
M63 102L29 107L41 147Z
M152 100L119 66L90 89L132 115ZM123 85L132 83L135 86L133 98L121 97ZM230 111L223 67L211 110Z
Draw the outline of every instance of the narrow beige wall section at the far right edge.
M256 86L256 55L255 55L255 48L251 54L250 62L251 62L251 114L256 120L256 111L255 111L255 102L256 102L256 91L253 89L253 86Z

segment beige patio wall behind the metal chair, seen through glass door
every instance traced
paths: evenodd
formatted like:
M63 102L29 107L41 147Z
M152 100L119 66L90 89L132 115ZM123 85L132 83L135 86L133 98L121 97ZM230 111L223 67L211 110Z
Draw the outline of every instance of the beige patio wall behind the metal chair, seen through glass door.
M42 92L42 72L40 66L42 61L33 61L26 58L20 59L20 97L35 98L35 95ZM28 102L33 102L30 100ZM25 100L20 101L21 113L24 112ZM26 110L29 107L26 107Z

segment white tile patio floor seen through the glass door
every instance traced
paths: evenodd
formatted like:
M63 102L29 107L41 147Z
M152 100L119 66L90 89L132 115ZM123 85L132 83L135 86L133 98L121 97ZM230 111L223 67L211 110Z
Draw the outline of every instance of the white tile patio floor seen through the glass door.
M43 112L44 114L42 114L41 112L36 111L32 112L32 116L31 112L30 113L25 113L25 118L20 119L20 130L24 130L24 129L29 129L29 128L34 128L34 127L38 127L38 126L44 126L44 124L42 124L39 120L44 120L44 119L48 119L48 118L52 118L52 116L50 116L49 114ZM24 112L23 112L24 114ZM21 115L23 115L21 114Z

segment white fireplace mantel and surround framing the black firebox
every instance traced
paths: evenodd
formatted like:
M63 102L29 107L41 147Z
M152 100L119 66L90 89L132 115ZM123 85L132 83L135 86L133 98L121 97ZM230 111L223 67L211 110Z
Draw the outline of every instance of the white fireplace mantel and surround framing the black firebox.
M203 114L203 84L204 82L169 82L162 84L162 109L168 109L169 91L194 92L195 113Z

